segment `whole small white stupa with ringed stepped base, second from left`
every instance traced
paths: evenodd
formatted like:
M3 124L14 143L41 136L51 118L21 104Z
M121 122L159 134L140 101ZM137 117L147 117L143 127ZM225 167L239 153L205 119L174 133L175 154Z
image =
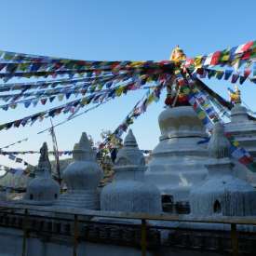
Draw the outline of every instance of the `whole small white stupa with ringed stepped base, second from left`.
M102 170L96 162L88 136L82 133L79 143L74 145L74 162L63 171L63 180L68 191L60 196L57 205L62 207L99 209L98 185Z

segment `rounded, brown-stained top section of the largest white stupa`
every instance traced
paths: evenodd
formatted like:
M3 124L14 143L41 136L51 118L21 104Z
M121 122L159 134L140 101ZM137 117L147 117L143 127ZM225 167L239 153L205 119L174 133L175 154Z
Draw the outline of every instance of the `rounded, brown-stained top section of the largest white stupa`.
M180 136L206 136L205 128L191 106L167 108L158 117L160 140Z

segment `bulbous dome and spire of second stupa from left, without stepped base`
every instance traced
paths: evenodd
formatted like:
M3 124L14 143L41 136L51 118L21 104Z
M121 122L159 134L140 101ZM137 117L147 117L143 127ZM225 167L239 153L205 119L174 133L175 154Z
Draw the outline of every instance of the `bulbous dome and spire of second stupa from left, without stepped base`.
M63 171L63 180L68 190L96 189L101 181L101 168L96 162L86 132L79 143L74 144L74 162Z

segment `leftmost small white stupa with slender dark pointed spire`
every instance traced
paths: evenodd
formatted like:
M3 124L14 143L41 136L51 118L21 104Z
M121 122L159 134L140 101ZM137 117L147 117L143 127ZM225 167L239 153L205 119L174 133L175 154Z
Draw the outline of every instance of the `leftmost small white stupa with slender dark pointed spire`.
M47 142L44 142L40 153L35 178L27 186L24 201L34 205L52 205L60 195L60 185L51 177Z

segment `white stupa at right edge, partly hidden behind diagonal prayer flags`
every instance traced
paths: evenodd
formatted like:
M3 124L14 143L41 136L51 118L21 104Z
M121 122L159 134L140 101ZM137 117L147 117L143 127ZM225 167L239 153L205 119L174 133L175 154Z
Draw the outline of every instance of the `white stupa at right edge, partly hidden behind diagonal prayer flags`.
M231 122L225 124L225 131L231 133L239 145L251 156L256 157L256 122L249 119L248 110L236 103L231 110ZM236 163L236 160L233 160ZM236 176L256 186L256 174L236 163Z

